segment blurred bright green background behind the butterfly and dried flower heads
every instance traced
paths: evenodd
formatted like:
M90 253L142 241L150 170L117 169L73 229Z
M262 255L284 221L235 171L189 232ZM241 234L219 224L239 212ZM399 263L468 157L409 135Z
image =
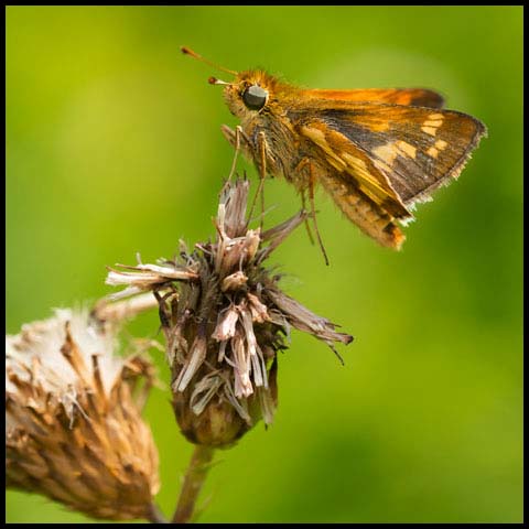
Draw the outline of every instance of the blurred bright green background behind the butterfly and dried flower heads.
M419 207L400 253L319 195L331 267L303 228L272 261L356 341L342 367L293 335L274 424L218 454L199 521L521 521L521 7L8 7L8 333L110 292L106 264L213 235L233 156L219 126L236 121L183 44L306 87L434 88L489 130L460 181ZM270 223L299 207L280 180L267 202ZM155 336L156 315L132 328ZM169 515L191 445L169 392L147 419ZM86 518L9 492L7 520Z

